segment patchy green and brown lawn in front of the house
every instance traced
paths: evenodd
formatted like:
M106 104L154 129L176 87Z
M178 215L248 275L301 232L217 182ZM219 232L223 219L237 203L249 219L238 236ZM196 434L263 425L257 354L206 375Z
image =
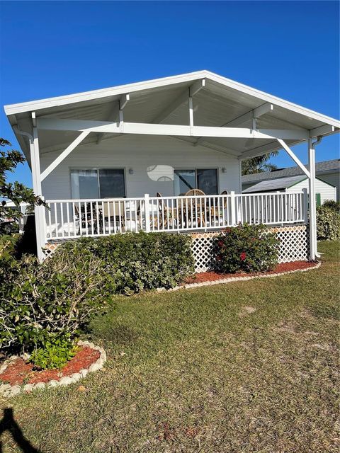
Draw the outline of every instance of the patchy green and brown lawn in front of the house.
M336 452L339 243L319 248L306 273L118 297L92 324L108 362L86 391L3 406L44 453Z

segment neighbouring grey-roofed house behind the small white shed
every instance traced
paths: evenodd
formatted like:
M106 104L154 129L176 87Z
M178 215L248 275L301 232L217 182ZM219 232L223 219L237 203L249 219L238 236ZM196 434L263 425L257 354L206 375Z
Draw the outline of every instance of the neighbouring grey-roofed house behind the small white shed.
M308 168L308 166L306 165ZM333 185L336 188L336 200L340 200L340 159L331 161L317 162L315 164L316 176ZM242 191L254 186L255 184L278 178L287 178L288 176L304 176L304 173L299 167L288 167L276 171L266 171L263 173L253 173L251 175L242 176Z

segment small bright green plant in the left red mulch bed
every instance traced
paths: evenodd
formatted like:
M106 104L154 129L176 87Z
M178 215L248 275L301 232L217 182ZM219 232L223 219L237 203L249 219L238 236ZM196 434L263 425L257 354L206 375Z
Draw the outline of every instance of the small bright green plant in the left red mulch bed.
M28 362L39 369L62 368L77 354L78 347L69 336L51 337L43 348L33 350Z

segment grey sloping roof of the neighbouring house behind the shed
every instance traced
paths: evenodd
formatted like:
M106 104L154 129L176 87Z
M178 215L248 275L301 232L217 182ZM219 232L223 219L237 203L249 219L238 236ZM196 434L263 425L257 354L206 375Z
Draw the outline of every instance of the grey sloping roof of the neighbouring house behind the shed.
M306 165L308 168L308 165ZM315 172L317 174L331 173L332 171L340 171L340 159L332 159L330 161L317 162L315 164ZM286 176L304 175L300 167L293 166L283 168L276 171L263 171L263 173L252 173L251 175L242 176L243 184L257 183L263 180L271 180L277 178L285 178Z

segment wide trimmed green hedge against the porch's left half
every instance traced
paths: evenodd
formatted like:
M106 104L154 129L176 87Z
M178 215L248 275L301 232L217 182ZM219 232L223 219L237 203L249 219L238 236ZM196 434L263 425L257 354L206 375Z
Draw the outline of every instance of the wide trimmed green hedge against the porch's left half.
M183 234L126 233L65 243L67 253L86 250L103 260L119 294L171 288L193 273L191 238Z

